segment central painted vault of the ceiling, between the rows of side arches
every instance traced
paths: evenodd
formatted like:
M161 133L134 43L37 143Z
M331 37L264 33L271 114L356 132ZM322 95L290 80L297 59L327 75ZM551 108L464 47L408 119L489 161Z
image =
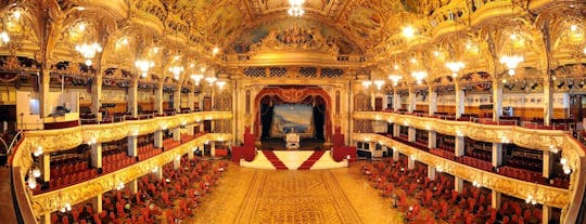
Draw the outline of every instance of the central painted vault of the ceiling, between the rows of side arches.
M270 28L297 24L319 29L341 49L361 53L398 34L420 12L409 0L306 0L301 18L289 16L288 0L167 0L202 40L241 52Z

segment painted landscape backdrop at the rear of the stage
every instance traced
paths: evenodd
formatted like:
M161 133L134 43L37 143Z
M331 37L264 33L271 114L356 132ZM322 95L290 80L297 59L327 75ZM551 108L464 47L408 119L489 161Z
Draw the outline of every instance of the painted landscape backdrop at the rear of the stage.
M286 133L298 133L303 139L314 137L314 107L306 104L275 105L271 137L284 137Z

